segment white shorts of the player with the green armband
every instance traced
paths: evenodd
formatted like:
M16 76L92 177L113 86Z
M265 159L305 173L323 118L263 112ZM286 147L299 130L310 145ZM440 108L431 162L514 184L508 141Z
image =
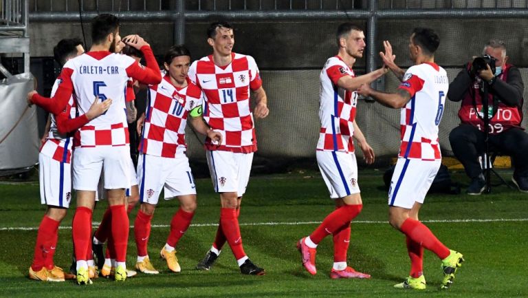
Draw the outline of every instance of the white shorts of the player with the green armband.
M163 158L140 153L137 160L137 180L140 202L157 204L159 193L164 189L165 200L179 195L195 195L195 178L184 154L176 158Z

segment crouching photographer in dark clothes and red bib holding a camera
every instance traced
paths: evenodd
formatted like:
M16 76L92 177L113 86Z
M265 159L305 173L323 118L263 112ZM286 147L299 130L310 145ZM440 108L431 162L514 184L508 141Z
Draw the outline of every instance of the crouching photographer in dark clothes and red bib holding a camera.
M449 85L449 100L462 101L461 124L449 136L451 147L472 180L467 193L480 195L486 187L478 157L485 152L483 92L487 88L489 150L511 156L515 165L511 180L528 192L528 134L520 127L524 84L518 68L507 63L502 41L489 41L483 54L467 63Z

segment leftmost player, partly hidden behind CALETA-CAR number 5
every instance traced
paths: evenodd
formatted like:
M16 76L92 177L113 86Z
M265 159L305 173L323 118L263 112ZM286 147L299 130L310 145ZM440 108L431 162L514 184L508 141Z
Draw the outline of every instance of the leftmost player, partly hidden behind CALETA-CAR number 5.
M63 39L53 49L54 58L60 65L64 65L70 58L85 52L83 43L79 39ZM54 96L62 78L59 76L52 88ZM28 94L30 99L35 92ZM31 101L30 101L31 104ZM72 97L69 98L64 111L50 114L50 129L47 130L45 141L39 153L39 184L41 202L47 205L47 211L39 226L36 237L33 263L30 267L31 279L41 281L64 281L65 277L73 279L64 273L62 268L54 265L53 257L58 240L58 225L66 216L69 202L72 198L72 131L85 125L89 120L106 111L111 100L94 101L89 111L76 118L76 107Z

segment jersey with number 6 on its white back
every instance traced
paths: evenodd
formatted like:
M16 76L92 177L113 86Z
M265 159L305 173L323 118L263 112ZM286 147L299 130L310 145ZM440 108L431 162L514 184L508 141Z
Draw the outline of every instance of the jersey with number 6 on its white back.
M407 70L399 89L408 91L411 98L401 109L398 157L441 160L438 125L448 87L448 75L435 63L422 63Z

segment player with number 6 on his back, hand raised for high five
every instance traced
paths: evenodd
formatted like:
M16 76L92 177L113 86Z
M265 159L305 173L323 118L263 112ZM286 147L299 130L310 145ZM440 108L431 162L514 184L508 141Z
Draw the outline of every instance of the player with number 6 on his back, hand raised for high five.
M442 118L448 76L434 63L434 51L440 44L439 36L429 28L415 28L409 39L409 53L415 64L407 72L394 63L391 44L384 42L384 63L401 78L397 92L388 94L362 85L358 93L371 96L377 102L401 108L401 146L391 188L388 191L389 223L406 235L410 257L410 276L395 288L423 290L423 248L432 251L442 261L441 288L451 286L456 269L461 266L461 253L451 251L418 219L426 193L441 164L438 125Z

